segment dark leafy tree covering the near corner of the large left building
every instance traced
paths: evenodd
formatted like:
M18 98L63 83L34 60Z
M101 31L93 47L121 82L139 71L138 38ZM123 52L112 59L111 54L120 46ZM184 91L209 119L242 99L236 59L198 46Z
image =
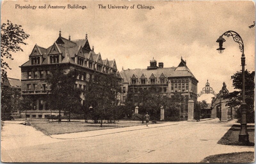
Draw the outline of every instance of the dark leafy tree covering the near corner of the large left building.
M77 71L66 72L61 70L59 66L52 69L51 73L47 75L46 81L50 84L51 94L49 94L50 108L59 109L59 122L61 122L60 111L70 113L77 108L81 108L81 93L80 88L75 87Z

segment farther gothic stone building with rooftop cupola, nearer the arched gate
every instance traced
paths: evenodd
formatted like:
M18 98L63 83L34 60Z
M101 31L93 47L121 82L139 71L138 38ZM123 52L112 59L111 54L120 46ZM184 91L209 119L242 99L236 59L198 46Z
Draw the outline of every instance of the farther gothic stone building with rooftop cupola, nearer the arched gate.
M161 87L163 95L168 97L180 92L182 96L189 98L189 92L192 90L192 99L196 101L198 81L182 58L178 67L169 68L164 68L162 62L159 62L157 66L157 62L153 58L147 69L122 70L120 75L123 85L122 103L125 102L127 93L133 93L134 99L136 99L139 88L151 86Z

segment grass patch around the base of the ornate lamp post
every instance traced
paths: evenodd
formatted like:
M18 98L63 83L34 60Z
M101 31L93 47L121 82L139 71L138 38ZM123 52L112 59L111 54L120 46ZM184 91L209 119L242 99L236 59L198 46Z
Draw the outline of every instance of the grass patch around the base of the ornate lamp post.
M240 125L233 125L227 133L218 141L218 144L221 145L244 145L243 143L238 142L238 134L240 131ZM249 134L250 143L248 146L254 146L254 126L247 125L247 131Z

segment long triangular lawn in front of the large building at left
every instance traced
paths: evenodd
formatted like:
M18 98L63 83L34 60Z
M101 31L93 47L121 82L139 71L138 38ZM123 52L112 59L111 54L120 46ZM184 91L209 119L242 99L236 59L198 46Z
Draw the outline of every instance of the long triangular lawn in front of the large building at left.
M138 126L145 125L141 122L116 122L116 123L104 123L100 127L100 123L84 123L84 121L76 122L49 122L48 120L28 120L29 123L36 130L42 131L45 135L55 135L55 134L65 134L65 133L74 133L82 131L92 131L92 130L102 130L102 129L113 129L113 128L123 128L128 126ZM158 123L158 122L157 122ZM151 124L151 123L150 123Z

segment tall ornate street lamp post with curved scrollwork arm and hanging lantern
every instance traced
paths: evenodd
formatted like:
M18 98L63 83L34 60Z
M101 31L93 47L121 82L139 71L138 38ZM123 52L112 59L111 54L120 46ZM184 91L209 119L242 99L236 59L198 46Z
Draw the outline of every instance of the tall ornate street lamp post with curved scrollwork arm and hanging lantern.
M249 135L247 132L247 127L246 127L246 103L245 103L245 76L244 76L244 65L245 65L245 56L244 56L244 42L239 34L237 34L235 31L227 31L220 35L219 39L216 42L219 42L219 47L217 50L221 54L223 53L225 48L222 48L222 44L224 41L226 41L222 36L232 36L234 41L239 44L239 49L242 52L242 57L241 57L241 64L242 64L242 78L243 78L243 88L242 88L242 123L241 123L241 129L239 132L239 142L243 143L249 143Z

